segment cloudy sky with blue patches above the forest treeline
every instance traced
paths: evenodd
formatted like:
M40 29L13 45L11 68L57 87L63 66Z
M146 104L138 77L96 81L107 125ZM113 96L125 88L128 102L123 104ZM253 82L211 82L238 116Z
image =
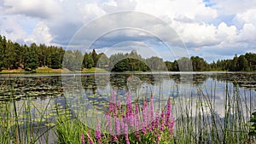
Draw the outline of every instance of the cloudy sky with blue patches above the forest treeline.
M256 1L0 0L0 35L21 44L212 62L256 53Z

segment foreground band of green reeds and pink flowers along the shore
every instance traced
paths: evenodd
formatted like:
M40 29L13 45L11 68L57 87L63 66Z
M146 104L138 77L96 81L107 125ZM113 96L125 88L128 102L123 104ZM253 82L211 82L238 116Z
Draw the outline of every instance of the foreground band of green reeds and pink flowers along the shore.
M55 98L50 99L53 103L35 105L27 97L21 109L17 109L17 101L7 101L0 107L0 143L254 143L254 137L249 135L253 126L248 119L253 110L243 100L253 95L239 95L237 86L232 90L227 86L223 94L227 105L220 116L215 111L215 99L211 99L216 96L216 89L208 90L212 95L198 89L195 97L169 97L159 109L154 109L159 103L152 99L153 95L141 95L134 103L126 93L126 103L120 103L113 90L105 103L107 110L102 113L102 121L98 120L97 112L82 106L74 115L67 101L61 104ZM51 111L47 112L48 109ZM95 116L88 118L100 123L87 126L87 121L82 120L87 117L86 112Z

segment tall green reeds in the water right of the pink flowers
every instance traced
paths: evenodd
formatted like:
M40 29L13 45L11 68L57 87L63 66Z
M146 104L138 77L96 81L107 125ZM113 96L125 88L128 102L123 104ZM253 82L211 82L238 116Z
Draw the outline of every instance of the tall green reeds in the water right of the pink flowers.
M176 112L175 138L177 143L247 143L248 112L246 96L238 86L224 88L224 115L216 111L215 91L197 89L197 96L173 99ZM216 90L212 88L210 90ZM249 95L250 97L252 95ZM213 98L213 99L212 99Z

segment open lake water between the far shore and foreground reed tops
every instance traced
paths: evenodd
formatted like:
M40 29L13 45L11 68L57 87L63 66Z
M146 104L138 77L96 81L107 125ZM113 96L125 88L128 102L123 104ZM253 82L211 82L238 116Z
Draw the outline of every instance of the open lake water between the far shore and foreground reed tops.
M155 101L166 101L169 97L196 97L200 90L219 106L224 104L225 92L230 94L236 90L253 109L256 72L0 75L0 101L24 101L30 98L34 102L44 103L51 98L61 98L65 93L73 93L73 96L84 95L84 99L89 101L108 102L113 89L123 102L127 91L130 91L133 100L153 95Z

